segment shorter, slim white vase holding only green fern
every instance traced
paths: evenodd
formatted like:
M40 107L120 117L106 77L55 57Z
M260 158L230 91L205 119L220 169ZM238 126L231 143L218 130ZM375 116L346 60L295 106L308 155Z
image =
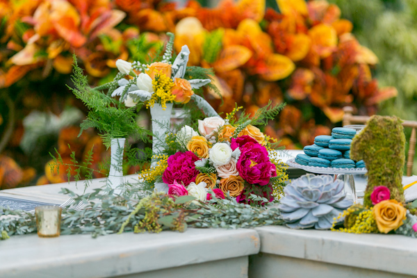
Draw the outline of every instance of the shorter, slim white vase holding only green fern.
M124 183L123 177L123 152L126 138L115 138L111 140L110 172L108 172L108 185L115 189L114 193L119 195L121 190L117 188Z

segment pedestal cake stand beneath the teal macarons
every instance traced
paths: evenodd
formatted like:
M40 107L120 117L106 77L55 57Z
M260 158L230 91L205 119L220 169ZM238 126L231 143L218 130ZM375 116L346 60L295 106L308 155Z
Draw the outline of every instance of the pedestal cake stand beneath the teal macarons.
M332 168L332 167L315 167L301 165L295 162L295 158L288 159L286 162L288 166L300 168L304 171L315 174L333 174L337 176L337 179L343 179L345 186L345 193L348 199L356 204L358 202L357 191L354 186L354 174L366 174L368 170L366 168Z

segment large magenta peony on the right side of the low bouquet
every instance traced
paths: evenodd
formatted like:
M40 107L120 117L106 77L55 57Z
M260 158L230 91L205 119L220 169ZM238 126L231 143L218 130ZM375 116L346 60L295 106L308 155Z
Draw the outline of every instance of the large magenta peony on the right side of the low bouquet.
M272 175L277 175L275 167L270 162L268 151L258 142L247 142L239 149L241 153L236 167L240 177L245 181L265 186L270 178L274 177Z

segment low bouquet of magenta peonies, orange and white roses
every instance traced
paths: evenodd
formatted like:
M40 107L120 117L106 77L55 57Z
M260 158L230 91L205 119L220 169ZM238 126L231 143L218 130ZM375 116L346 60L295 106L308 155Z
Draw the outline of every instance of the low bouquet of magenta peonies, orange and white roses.
M158 163L139 174L140 180L170 195L192 195L199 201L226 195L245 204L272 202L282 193L288 179L279 161L277 140L265 136L253 124L275 117L284 107L269 104L252 119L235 119L236 107L226 119L206 117L198 120L198 131L183 126L167 136L167 153Z

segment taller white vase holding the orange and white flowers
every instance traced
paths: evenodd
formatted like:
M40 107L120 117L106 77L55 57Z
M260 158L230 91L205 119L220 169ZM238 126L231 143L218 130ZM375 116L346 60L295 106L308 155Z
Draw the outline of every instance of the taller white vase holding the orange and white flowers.
M151 107L152 133L154 134L152 154L154 155L161 154L165 149L165 138L171 127L172 105L172 103L167 104L165 110L162 109L161 104L154 104L154 107ZM156 161L152 160L151 166L155 164Z

